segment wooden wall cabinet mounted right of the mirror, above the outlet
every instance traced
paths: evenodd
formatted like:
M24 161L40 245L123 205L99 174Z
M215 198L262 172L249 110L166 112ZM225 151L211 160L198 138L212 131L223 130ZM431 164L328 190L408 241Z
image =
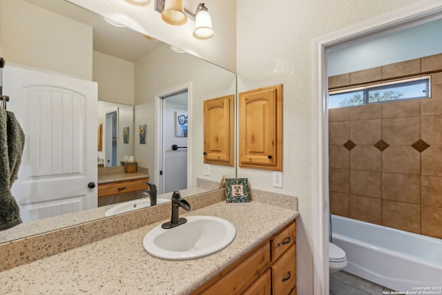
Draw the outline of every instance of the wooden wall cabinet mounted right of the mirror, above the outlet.
M240 167L282 171L282 84L239 93Z

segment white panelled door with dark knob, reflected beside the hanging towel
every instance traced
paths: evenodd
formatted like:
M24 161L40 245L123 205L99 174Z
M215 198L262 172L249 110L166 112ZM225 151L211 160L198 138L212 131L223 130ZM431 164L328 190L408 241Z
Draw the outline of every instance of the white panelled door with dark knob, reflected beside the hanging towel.
M26 135L11 190L23 222L97 207L97 84L7 65L3 94Z

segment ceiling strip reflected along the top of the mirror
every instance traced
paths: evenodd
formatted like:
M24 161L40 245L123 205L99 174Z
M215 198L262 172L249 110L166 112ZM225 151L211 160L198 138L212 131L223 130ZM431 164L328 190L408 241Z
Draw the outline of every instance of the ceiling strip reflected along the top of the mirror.
M107 23L103 17L64 0L24 0L93 28L93 50L112 55L126 61L135 62L152 50L163 45L151 41L139 32L120 28ZM151 0L150 6L155 0ZM198 6L198 4L197 4Z

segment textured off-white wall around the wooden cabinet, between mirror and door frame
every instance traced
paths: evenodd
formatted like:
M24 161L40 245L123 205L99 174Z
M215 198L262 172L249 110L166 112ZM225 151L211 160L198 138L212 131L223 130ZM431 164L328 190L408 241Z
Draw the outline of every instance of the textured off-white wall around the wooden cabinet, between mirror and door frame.
M237 1L238 91L282 83L283 189L271 171L238 169L251 187L298 196L298 293L313 289L314 102L312 39L417 0Z

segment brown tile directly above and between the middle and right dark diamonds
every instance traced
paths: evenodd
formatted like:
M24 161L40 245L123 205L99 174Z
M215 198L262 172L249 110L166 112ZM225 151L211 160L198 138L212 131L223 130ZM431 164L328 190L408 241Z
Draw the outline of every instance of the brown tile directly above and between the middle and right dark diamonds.
M382 139L387 144L412 145L419 138L421 138L421 117L401 117L382 120Z

